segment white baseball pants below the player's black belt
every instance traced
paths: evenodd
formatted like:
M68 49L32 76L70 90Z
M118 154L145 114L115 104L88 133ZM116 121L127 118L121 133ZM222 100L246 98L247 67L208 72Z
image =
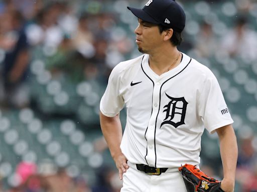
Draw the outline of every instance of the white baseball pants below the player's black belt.
M128 162L130 168L123 173L120 192L187 192L179 171L167 170L161 175L149 175Z

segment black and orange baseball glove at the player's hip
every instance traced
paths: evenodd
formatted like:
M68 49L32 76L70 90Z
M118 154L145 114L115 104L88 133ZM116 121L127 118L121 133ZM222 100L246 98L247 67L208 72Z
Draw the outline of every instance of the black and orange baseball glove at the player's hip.
M220 188L220 180L209 177L203 171L192 164L185 164L179 167L187 192L224 192Z

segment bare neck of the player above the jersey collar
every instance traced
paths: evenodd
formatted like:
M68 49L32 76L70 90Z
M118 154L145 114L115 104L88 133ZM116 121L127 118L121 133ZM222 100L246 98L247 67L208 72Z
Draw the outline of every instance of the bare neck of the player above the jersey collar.
M152 70L161 75L179 65L181 54L176 46L163 48L149 54L149 65Z

